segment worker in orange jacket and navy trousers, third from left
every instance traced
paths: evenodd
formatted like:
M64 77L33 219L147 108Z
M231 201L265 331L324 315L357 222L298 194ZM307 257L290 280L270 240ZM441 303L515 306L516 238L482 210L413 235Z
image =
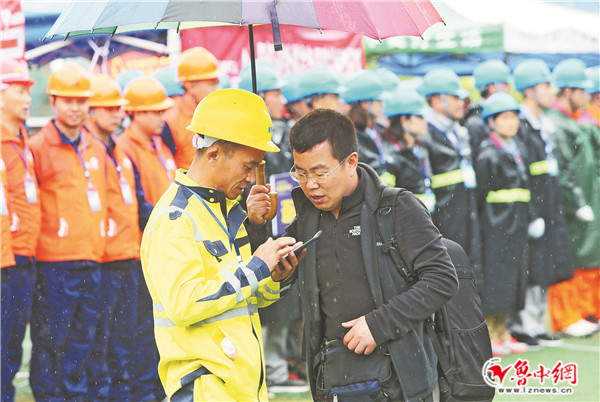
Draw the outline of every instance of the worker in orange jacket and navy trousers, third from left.
M102 257L102 311L90 359L91 388L96 399L131 400L131 372L137 329L140 265L138 202L133 164L116 145L114 132L127 101L117 82L105 74L91 79L93 95L85 127L106 147L107 226ZM122 308L122 306L128 306Z

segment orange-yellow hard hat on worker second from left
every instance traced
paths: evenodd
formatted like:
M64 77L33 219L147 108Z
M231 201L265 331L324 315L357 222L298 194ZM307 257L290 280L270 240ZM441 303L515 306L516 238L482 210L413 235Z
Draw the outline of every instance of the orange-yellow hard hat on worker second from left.
M93 95L90 74L77 63L65 63L50 75L46 93L67 98L89 98Z

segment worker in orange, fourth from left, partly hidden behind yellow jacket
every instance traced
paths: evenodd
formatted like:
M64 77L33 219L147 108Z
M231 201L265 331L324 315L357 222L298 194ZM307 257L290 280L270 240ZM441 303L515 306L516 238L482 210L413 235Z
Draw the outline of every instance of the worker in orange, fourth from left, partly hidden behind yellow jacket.
M117 138L122 149L139 174L145 198L139 198L140 229L152 212L152 207L167 190L175 176L175 162L169 148L159 134L164 124L163 112L173 106L164 87L152 77L139 77L127 84L124 98L125 111L131 118L129 127ZM151 204L150 208L147 205ZM137 335L135 362L131 373L133 400L160 400L165 394L158 376L158 350L154 341L152 299L146 287L142 270L136 270L137 289Z

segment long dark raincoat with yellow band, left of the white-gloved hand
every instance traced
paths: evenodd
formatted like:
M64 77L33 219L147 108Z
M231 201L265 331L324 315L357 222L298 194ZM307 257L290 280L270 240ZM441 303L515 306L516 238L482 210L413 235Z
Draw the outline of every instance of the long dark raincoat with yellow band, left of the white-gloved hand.
M517 143L517 150L522 154ZM492 137L481 143L477 161L477 202L483 249L485 314L519 311L527 286L527 229L533 220L525 162Z

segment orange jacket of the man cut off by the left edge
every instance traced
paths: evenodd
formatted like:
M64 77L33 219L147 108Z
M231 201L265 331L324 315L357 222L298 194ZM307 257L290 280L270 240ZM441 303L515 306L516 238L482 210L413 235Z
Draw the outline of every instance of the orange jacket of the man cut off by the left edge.
M35 163L28 146L28 134L23 125L20 135L0 128L2 160L8 179L8 206L12 249L15 255L33 257L40 235L41 207Z

